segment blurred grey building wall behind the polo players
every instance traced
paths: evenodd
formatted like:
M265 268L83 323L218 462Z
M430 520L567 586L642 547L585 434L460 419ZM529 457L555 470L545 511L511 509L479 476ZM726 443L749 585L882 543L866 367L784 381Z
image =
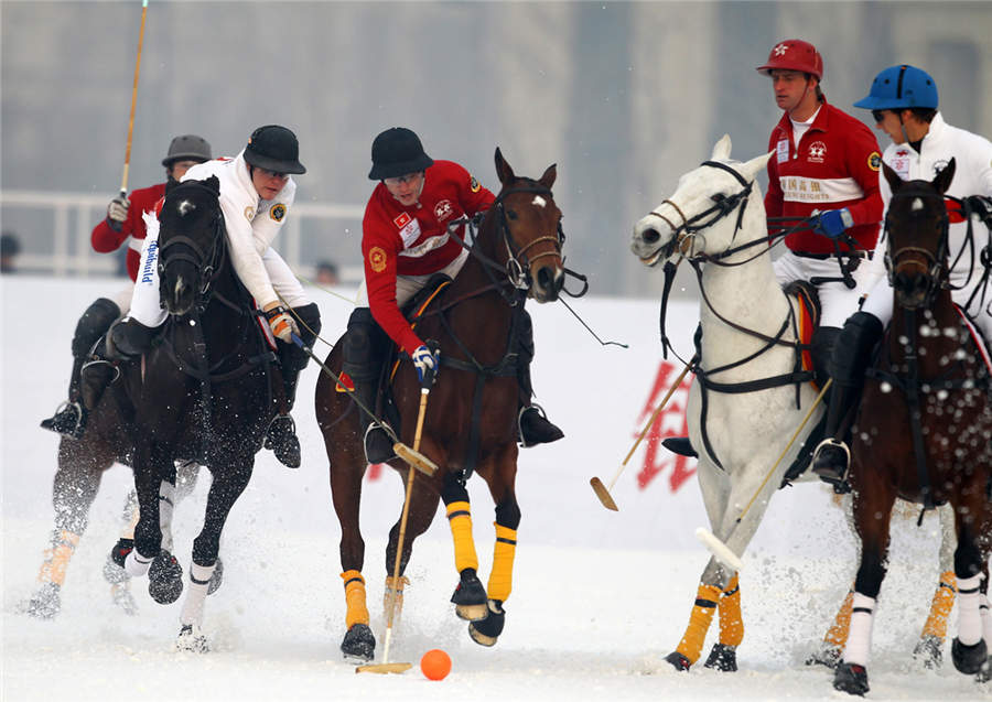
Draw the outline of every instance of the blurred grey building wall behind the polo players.
M0 2L0 187L106 194L120 183L141 3ZM953 125L992 133L988 2L168 2L148 10L130 185L162 177L176 133L234 154L290 126L305 202L364 204L369 145L417 130L495 185L559 164L569 266L601 294L653 295L630 226L729 132L762 152L779 115L754 67L813 42L844 109L894 63L927 68ZM862 110L852 111L867 118ZM884 145L884 144L883 144ZM28 251L47 225L3 212ZM356 226L304 230L306 259L359 260Z

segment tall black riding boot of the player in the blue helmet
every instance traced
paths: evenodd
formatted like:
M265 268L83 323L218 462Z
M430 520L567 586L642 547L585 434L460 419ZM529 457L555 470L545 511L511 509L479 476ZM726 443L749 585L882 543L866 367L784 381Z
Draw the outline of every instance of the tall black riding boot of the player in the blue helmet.
M848 449L850 421L864 387L864 371L871 363L872 349L882 338L882 322L867 312L855 312L837 337L830 370L833 389L827 410L827 439L817 446L812 471L834 487L843 487L851 462Z

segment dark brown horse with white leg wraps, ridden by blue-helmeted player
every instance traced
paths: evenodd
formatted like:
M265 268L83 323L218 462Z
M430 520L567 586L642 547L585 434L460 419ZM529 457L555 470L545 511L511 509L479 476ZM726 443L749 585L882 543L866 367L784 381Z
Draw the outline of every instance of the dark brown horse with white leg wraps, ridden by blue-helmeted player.
M944 193L955 161L931 182L904 183L883 168L893 192L885 227L894 316L866 374L851 447L862 553L833 685L852 694L869 690L872 620L896 497L953 508L959 619L951 657L964 673L988 674L989 667L979 608L992 552L992 401L989 371L948 285Z

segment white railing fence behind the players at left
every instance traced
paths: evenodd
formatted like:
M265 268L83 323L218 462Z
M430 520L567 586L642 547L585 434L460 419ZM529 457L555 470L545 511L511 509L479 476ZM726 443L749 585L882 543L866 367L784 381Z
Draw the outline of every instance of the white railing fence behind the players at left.
M26 250L18 256L18 268L55 276L105 276L117 271L118 259L97 253L89 244L90 233L104 218L108 201L107 195L87 193L0 191L0 222L9 222L12 215L19 219L26 216L40 223L32 226L32 230L46 231L51 226L50 237L33 237L32 246L24 247ZM296 203L277 248L294 271L312 276L316 260L305 257L303 251L308 225L335 222L356 233L352 248L358 257L357 233L362 230L363 214L362 205ZM39 246L42 250L37 250ZM358 262L342 264L338 276L343 282L356 282L362 279L362 266Z

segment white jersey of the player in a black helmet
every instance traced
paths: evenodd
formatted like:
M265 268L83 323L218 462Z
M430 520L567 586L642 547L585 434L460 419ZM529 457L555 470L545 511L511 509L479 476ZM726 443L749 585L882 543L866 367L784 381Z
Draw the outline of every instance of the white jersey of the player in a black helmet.
M234 159L217 159L194 165L183 181L202 181L216 175L220 181L220 209L227 226L230 259L238 278L255 298L258 306L278 302L276 291L262 263L262 255L282 228L296 195L290 177L274 199L259 197L242 150Z

